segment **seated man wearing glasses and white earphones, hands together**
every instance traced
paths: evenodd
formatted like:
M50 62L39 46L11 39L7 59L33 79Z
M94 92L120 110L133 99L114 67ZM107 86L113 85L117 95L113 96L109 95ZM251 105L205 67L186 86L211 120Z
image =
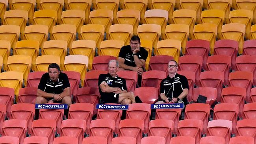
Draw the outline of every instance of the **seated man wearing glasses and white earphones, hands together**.
M168 63L167 78L163 79L160 84L161 101L157 103L184 103L187 104L188 81L185 76L177 74L178 63L174 60Z

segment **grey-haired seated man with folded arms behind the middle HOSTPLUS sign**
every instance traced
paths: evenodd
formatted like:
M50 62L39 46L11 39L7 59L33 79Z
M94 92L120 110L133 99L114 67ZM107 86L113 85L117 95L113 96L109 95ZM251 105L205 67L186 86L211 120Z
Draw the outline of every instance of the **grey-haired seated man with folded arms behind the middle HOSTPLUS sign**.
M128 105L135 103L133 92L127 92L126 81L117 76L118 62L110 60L108 63L108 74L100 74L98 87L100 98L103 103L119 103Z

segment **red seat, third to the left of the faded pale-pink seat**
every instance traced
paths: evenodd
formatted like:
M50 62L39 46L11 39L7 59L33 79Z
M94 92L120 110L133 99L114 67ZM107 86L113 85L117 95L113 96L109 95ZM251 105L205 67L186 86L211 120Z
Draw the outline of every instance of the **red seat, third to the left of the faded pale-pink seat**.
M142 133L144 131L144 122L139 119L124 119L119 124L120 137L134 137L136 144L141 143Z

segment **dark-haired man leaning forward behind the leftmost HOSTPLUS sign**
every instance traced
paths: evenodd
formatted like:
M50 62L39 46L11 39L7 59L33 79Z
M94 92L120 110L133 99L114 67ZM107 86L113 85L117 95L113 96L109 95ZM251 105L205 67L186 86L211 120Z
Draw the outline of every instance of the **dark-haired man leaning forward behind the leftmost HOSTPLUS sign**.
M71 89L67 74L60 72L58 64L52 63L48 73L43 74L37 89L35 103L72 104Z

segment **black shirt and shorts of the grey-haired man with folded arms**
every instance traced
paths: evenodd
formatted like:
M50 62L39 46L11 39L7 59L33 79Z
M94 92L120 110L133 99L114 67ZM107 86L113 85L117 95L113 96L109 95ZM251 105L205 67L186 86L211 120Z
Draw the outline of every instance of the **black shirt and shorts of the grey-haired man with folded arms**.
M127 90L126 81L123 78L117 76L114 78L109 73L108 74L100 74L98 79L98 88L100 91L100 98L102 99L103 103L117 103L118 102L118 95L114 92L102 92L100 89L100 84L102 82L108 83L109 87L119 87L121 90Z

